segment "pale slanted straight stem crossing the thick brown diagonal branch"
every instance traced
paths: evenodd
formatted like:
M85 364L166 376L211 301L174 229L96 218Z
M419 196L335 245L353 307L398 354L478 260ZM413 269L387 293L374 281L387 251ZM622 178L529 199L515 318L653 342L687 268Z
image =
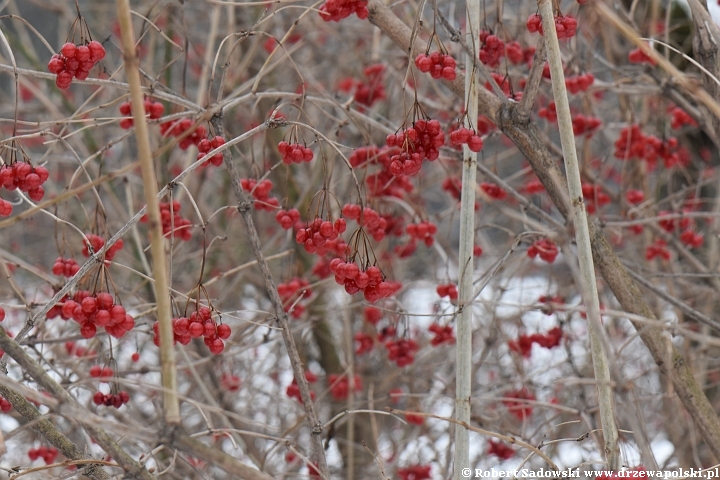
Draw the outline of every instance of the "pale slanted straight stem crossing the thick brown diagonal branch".
M590 333L590 351L592 353L595 381L598 389L598 404L600 406L600 422L605 441L605 457L608 469L618 470L620 466L620 450L618 448L618 430L615 423L615 407L613 390L610 383L610 368L607 352L603 345L604 331L600 321L600 302L595 283L595 266L593 264L590 248L590 230L588 227L587 212L583 202L582 185L580 180L580 167L578 165L577 150L575 149L575 136L570 117L567 91L565 89L565 76L563 74L562 59L560 58L560 44L555 30L555 17L550 0L539 0L540 15L542 16L545 42L548 49L550 75L552 79L553 97L558 116L560 129L560 143L565 158L565 171L567 174L568 191L575 220L575 240L577 242L578 260L580 263L580 276L583 302L587 309L587 318Z

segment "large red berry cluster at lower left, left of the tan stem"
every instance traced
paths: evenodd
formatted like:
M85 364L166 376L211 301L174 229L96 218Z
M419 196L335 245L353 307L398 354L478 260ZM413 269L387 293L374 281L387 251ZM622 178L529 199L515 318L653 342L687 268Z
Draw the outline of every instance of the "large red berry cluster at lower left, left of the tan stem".
M72 318L80 324L80 335L92 338L97 328L115 338L120 338L135 327L135 319L125 311L122 305L116 305L113 296L107 292L97 294L80 290L72 300L66 300L62 306L63 318Z

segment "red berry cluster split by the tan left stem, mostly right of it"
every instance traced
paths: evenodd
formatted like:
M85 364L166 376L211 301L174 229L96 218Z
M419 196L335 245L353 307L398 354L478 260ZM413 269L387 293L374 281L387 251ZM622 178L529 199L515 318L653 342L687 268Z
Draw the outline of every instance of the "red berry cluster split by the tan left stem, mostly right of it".
M178 317L172 319L173 344L187 345L193 338L203 337L205 345L214 355L220 355L225 350L225 342L230 338L232 329L230 325L221 323L218 325L212 318L212 311L207 307L200 307L192 312L189 317ZM160 325L153 324L153 343L160 346Z

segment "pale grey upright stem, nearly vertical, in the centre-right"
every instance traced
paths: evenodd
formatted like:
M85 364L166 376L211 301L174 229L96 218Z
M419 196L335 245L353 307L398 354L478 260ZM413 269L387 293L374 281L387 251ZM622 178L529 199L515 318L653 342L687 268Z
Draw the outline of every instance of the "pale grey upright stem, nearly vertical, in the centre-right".
M477 52L480 30L480 1L467 0L467 44ZM466 54L465 105L467 108L466 127L477 127L478 100L477 76L473 71L474 56ZM467 145L463 147L462 194L460 197L460 252L458 256L459 305L457 321L457 350L455 367L455 419L470 423L470 392L472 363L472 296L473 296L473 244L475 242L475 174L477 154ZM455 428L455 473L454 478L464 478L462 472L470 468L470 432L457 425Z

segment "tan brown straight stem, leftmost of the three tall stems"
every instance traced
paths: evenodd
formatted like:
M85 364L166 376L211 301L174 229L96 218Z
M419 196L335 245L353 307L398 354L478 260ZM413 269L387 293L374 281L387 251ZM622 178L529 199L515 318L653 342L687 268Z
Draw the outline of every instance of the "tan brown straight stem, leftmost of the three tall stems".
M178 424L180 423L180 404L177 398L175 350L173 348L172 314L165 262L165 245L163 242L162 222L160 221L160 206L157 198L157 179L155 178L155 166L153 165L150 137L148 135L147 121L145 120L143 91L138 69L139 61L135 52L135 35L132 30L128 0L117 0L117 12L120 32L122 33L125 75L130 85L135 136L138 143L138 156L140 157L143 190L149 220L150 253L152 254L153 278L155 279L155 301L157 302L157 316L160 323L160 366L165 421L168 424Z

